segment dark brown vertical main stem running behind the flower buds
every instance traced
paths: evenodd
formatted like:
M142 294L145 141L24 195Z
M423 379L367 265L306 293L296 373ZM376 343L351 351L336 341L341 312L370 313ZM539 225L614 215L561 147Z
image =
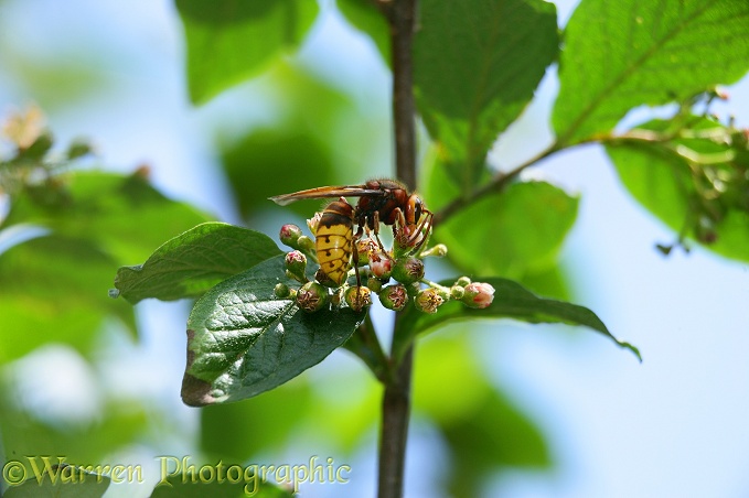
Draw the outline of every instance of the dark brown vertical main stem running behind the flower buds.
M379 0L390 25L393 58L393 124L398 180L416 187L416 127L411 46L417 0ZM399 314L394 334L398 333ZM400 498L404 488L406 441L410 418L410 383L414 347L409 346L385 385L379 433L379 498ZM393 356L390 356L393 360Z

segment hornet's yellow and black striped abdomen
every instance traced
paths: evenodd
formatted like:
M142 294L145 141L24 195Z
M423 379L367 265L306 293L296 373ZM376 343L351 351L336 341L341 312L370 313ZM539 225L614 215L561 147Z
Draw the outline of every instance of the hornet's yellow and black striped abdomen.
M339 285L351 268L353 236L353 207L342 201L328 205L318 223L314 249L320 269Z

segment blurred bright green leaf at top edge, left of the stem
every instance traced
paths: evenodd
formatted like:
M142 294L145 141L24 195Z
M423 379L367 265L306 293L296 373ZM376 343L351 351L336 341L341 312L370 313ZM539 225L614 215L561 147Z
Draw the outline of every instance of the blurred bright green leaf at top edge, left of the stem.
M176 0L190 98L201 104L295 50L318 14L313 0Z

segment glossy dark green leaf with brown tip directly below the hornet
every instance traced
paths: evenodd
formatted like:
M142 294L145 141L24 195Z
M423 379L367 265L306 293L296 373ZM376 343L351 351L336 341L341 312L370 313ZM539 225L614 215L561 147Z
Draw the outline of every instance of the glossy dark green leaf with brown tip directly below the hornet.
M188 321L182 399L204 405L252 398L322 361L353 334L365 313L307 314L275 296L283 257L271 258L204 294Z

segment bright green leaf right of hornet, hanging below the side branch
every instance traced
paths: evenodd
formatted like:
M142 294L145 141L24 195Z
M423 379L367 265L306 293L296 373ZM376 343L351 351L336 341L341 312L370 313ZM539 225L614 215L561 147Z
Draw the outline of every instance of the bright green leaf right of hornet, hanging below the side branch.
M463 272L520 279L556 264L577 207L577 197L552 184L513 183L438 225L435 239Z

